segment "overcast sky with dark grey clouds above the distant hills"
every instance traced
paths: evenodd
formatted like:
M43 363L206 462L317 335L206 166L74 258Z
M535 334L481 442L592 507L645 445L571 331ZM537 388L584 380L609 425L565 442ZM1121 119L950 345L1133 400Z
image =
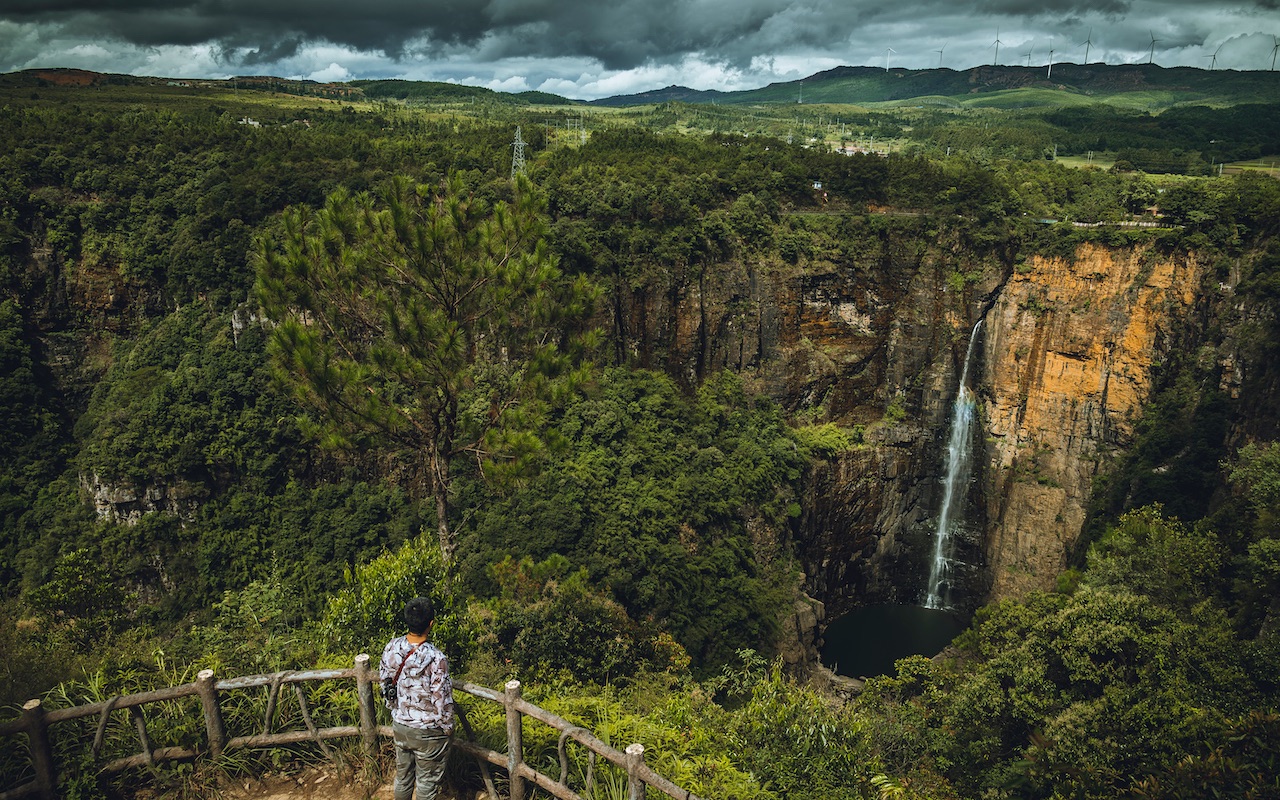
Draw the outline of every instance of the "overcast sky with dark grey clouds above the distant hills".
M1146 63L1155 38L1164 67L1271 69L1280 0L0 0L0 72L408 78L585 100L886 59L966 69L996 60L997 36L1001 64L1043 65L1051 47L1082 63L1087 46L1091 61Z

